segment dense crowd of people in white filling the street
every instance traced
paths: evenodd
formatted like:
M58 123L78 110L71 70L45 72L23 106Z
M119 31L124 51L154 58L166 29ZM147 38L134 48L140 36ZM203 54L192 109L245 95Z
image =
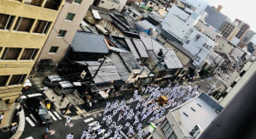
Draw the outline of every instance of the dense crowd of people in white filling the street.
M176 84L171 86L171 84L168 84L163 88L154 85L143 87L140 92L135 90L130 100L123 99L121 102L119 100L112 103L108 102L102 114L102 121L96 122L93 127L84 131L83 137L86 139L111 137L121 139L123 136L137 135L137 138L140 139L148 136L148 129L143 129L145 125L165 118L166 110L175 108L195 97L199 94L198 88L196 85ZM149 97L143 98L146 94L150 94ZM157 99L161 96L167 97L167 103L164 105L157 102ZM132 106L136 107L132 108ZM113 121L114 117L118 119ZM102 125L107 125L107 129L102 130Z

